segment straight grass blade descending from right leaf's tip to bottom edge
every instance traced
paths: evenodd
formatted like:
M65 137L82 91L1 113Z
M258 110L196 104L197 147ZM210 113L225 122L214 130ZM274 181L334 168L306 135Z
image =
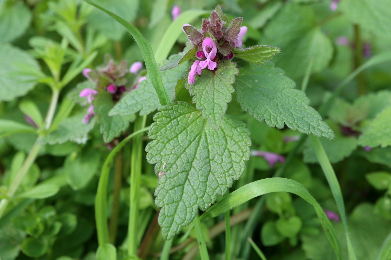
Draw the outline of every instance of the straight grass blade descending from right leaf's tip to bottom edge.
M337 203L339 214L341 214L342 223L344 225L345 233L346 233L346 243L348 245L349 259L356 260L357 258L354 253L352 241L350 240L350 236L349 236L348 221L346 220L346 212L345 212L345 205L342 197L342 191L341 191L341 187L339 186L337 176L335 175L333 166L331 165L326 155L325 149L323 149L322 143L320 142L319 138L310 135L310 140L311 140L312 147L315 150L315 154L319 161L319 164L322 167L323 172L325 173L328 185L330 186L335 202Z

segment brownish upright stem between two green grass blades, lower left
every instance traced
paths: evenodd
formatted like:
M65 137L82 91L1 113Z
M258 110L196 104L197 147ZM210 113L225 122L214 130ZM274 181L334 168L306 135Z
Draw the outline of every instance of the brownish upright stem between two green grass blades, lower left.
M122 150L118 152L115 158L115 173L114 173L114 192L113 204L111 206L111 217L109 225L110 243L115 245L118 229L118 216L120 213L120 191L122 187Z

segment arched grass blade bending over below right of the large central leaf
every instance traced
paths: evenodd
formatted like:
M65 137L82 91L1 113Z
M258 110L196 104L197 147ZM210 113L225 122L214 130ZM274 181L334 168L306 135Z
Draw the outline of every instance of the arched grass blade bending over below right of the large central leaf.
M204 221L208 218L219 216L220 214L223 214L257 196L278 191L294 193L314 206L323 230L325 230L326 236L337 254L337 259L341 260L341 249L339 248L334 227L331 225L330 220L328 220L322 207L316 202L314 197L310 195L308 190L300 184L300 182L295 180L285 178L268 178L251 182L230 193L230 195L225 196L222 200L210 207L210 209L201 216L201 220Z

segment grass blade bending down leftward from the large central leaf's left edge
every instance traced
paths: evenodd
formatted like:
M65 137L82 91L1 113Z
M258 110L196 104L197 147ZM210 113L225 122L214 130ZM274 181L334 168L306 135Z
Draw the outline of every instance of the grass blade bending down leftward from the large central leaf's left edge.
M139 131L127 136L109 153L102 166L102 172L99 177L97 196L95 198L95 221L98 233L98 242L100 246L109 243L109 227L107 223L107 185L109 181L109 170L113 164L114 158L118 151L126 145L133 137L149 130L149 127L144 127Z

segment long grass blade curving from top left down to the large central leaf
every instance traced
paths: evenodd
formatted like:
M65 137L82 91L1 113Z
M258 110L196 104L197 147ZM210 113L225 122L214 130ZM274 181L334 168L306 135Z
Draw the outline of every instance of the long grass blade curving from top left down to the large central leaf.
M147 67L149 78L152 81L152 85L155 88L156 94L158 94L160 104L162 106L169 104L170 98L169 95L167 94L166 89L164 88L163 79L161 77L159 67L156 64L151 44L149 44L149 42L144 38L141 32L137 30L136 27L128 23L126 20L104 9L103 7L95 4L91 0L84 0L84 1L90 5L95 6L99 10L105 12L106 14L114 18L118 23L120 23L122 26L126 28L126 30L130 32L130 34L135 39L138 47L140 47L141 53L145 61L145 67Z

